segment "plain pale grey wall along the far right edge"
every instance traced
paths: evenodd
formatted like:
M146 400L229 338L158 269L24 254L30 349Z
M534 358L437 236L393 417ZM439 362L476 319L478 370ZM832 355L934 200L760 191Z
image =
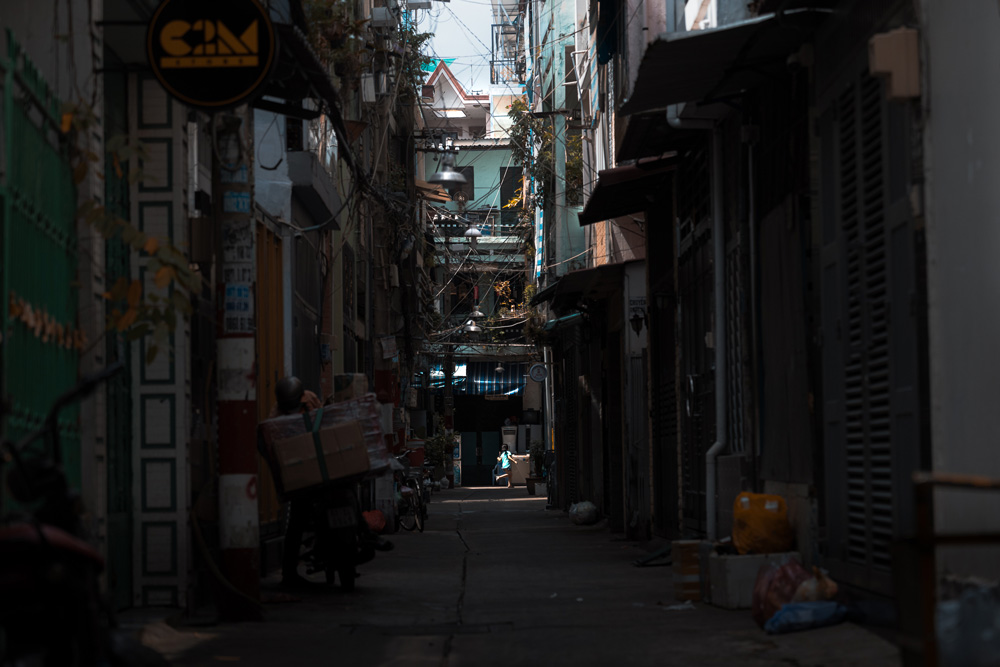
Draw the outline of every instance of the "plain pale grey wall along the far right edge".
M931 438L936 471L1000 477L1000 11L922 0ZM938 531L1000 530L1000 494L939 494ZM984 549L945 569L1000 576Z

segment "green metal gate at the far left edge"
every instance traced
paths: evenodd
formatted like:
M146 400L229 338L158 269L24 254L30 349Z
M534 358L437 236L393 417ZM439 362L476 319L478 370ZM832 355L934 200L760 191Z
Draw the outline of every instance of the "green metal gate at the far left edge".
M7 31L0 181L3 341L0 380L9 398L5 435L41 424L77 377L76 193L59 124L59 101ZM80 484L77 409L60 420L66 472Z

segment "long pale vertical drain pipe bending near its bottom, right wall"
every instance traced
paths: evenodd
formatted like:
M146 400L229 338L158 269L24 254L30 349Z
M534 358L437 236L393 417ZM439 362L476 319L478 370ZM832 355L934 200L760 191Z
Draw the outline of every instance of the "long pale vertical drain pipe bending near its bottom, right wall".
M708 539L718 530L715 459L726 448L726 230L722 219L722 131L712 132L712 245L715 254L715 443L705 452L705 510Z

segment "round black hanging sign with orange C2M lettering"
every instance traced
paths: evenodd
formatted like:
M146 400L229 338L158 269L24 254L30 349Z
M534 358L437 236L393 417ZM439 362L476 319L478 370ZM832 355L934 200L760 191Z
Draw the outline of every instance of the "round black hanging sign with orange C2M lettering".
M163 0L146 30L146 56L160 84L181 102L234 107L271 72L274 25L257 0Z

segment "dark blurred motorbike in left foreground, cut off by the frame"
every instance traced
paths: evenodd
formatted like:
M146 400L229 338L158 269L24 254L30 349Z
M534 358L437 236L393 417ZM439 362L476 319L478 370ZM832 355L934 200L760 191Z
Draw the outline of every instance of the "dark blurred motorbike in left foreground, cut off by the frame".
M120 371L84 378L56 399L42 426L0 442L7 488L23 511L0 525L0 664L166 665L156 652L116 633L100 594L104 558L86 541L82 506L66 480L59 413Z

